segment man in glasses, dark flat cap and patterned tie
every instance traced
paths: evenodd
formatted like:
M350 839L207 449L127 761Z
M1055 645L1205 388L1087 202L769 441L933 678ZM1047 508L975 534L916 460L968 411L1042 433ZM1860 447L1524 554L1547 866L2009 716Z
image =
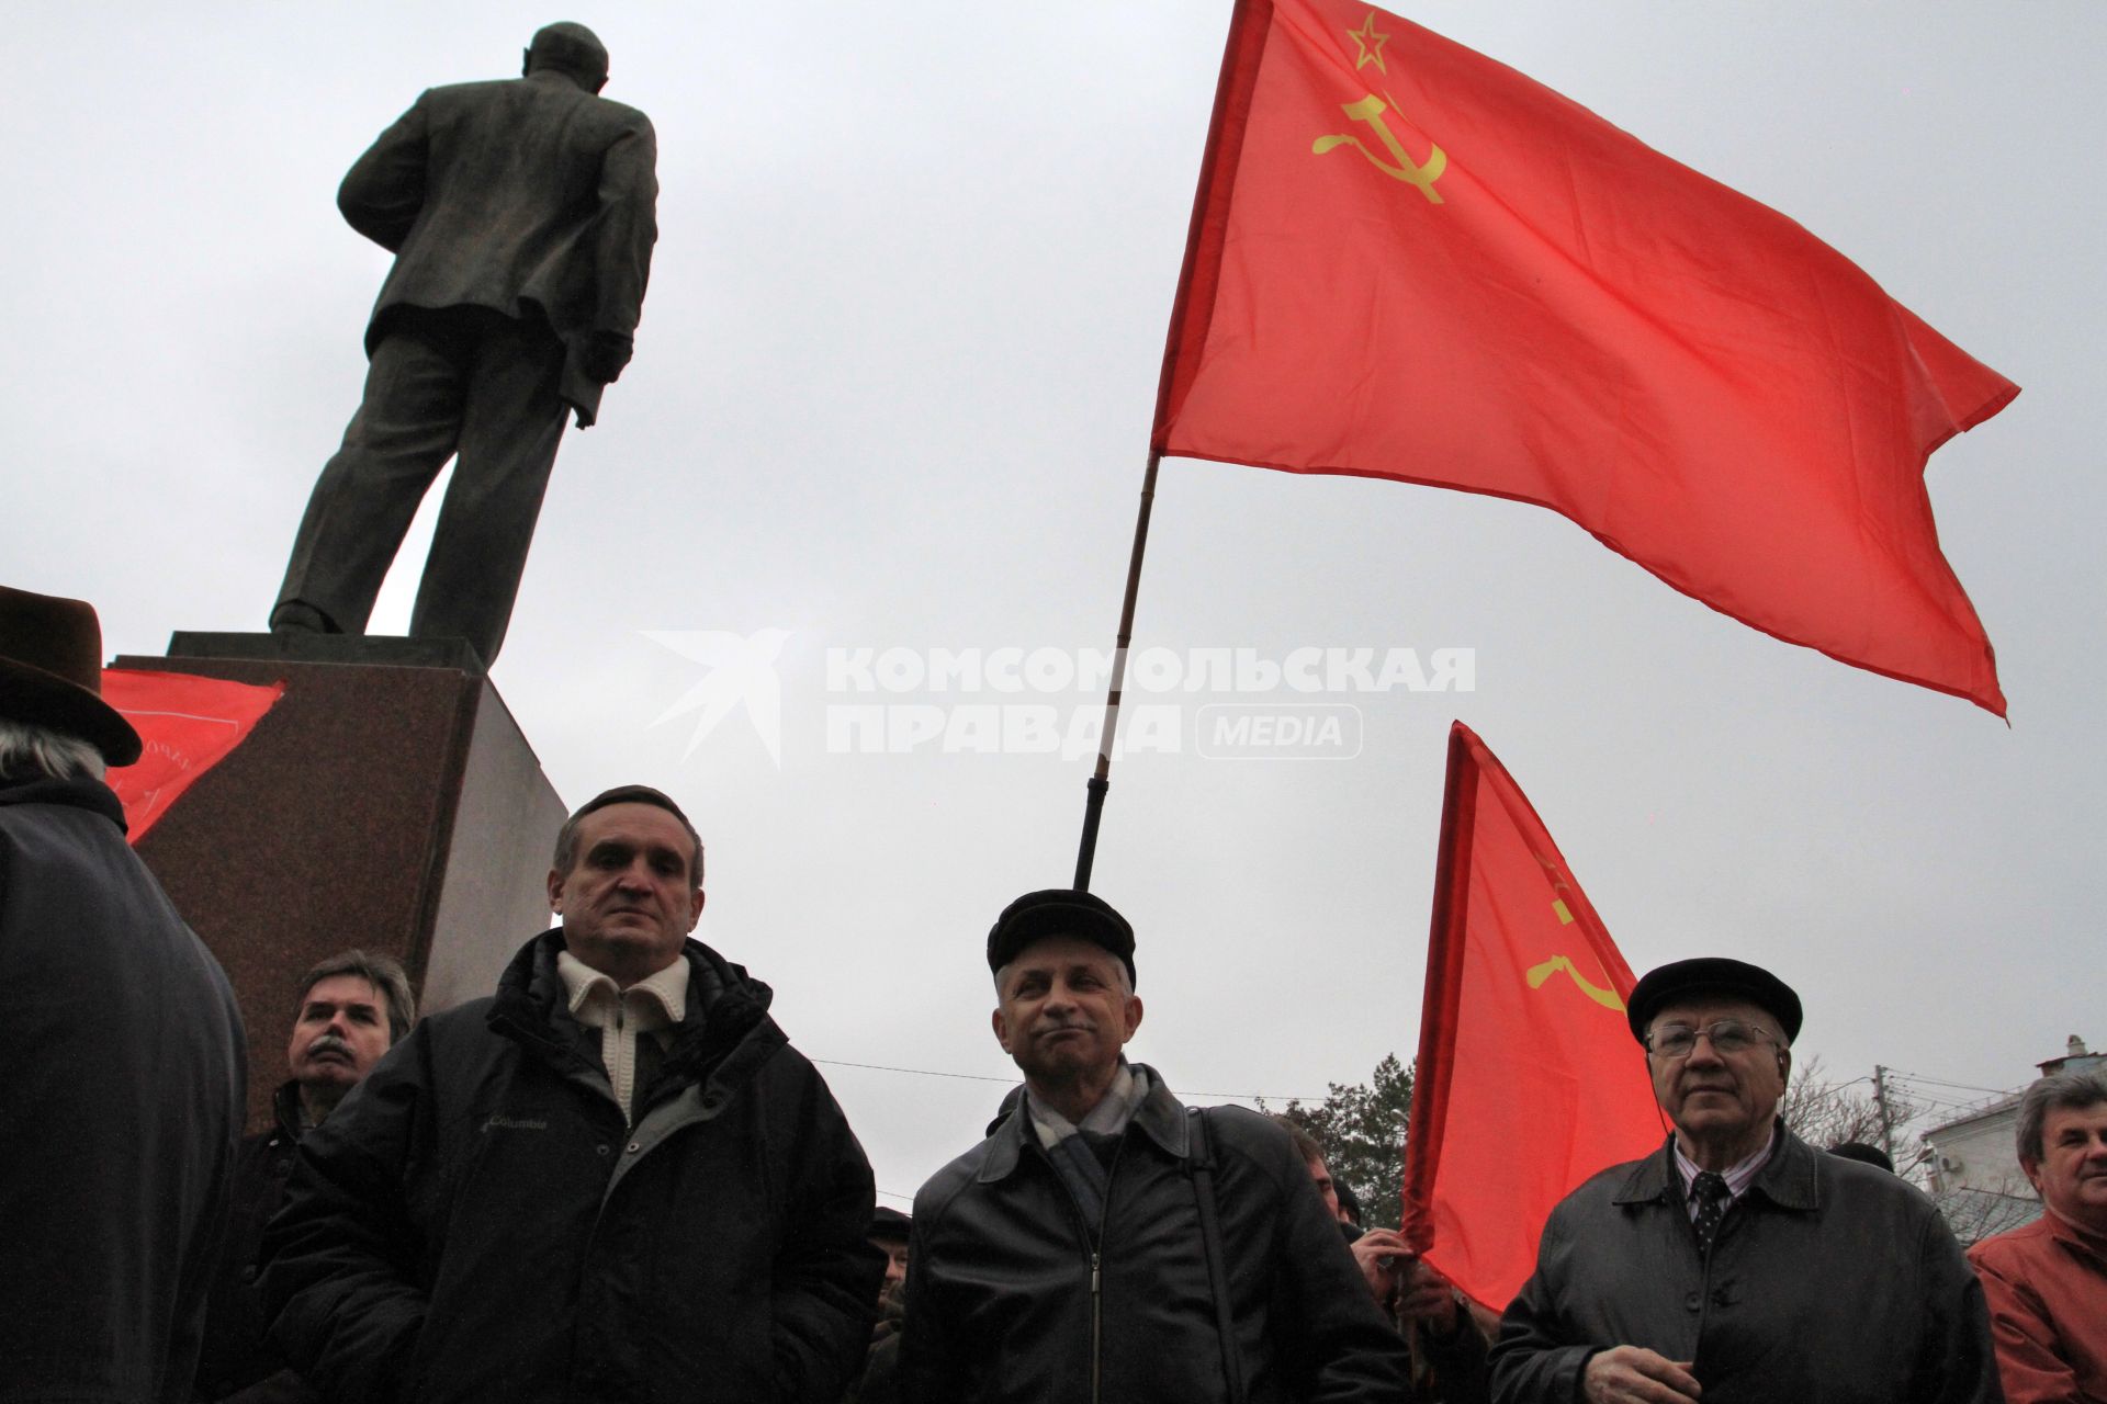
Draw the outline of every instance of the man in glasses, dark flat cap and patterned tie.
M1675 1130L1551 1212L1494 1400L2000 1400L1983 1290L1932 1202L1778 1120L1785 981L1681 960L1627 1017Z

